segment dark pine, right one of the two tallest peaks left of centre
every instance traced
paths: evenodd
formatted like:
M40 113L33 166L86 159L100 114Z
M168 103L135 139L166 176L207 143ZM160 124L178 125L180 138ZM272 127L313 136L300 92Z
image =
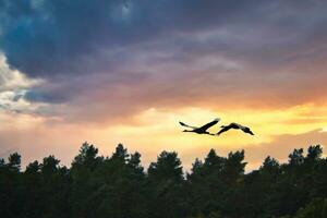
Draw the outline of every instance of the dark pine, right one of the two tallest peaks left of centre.
M119 144L95 171L94 177L101 180L89 197L96 208L95 217L147 217L145 174L140 158L138 153L130 155Z

